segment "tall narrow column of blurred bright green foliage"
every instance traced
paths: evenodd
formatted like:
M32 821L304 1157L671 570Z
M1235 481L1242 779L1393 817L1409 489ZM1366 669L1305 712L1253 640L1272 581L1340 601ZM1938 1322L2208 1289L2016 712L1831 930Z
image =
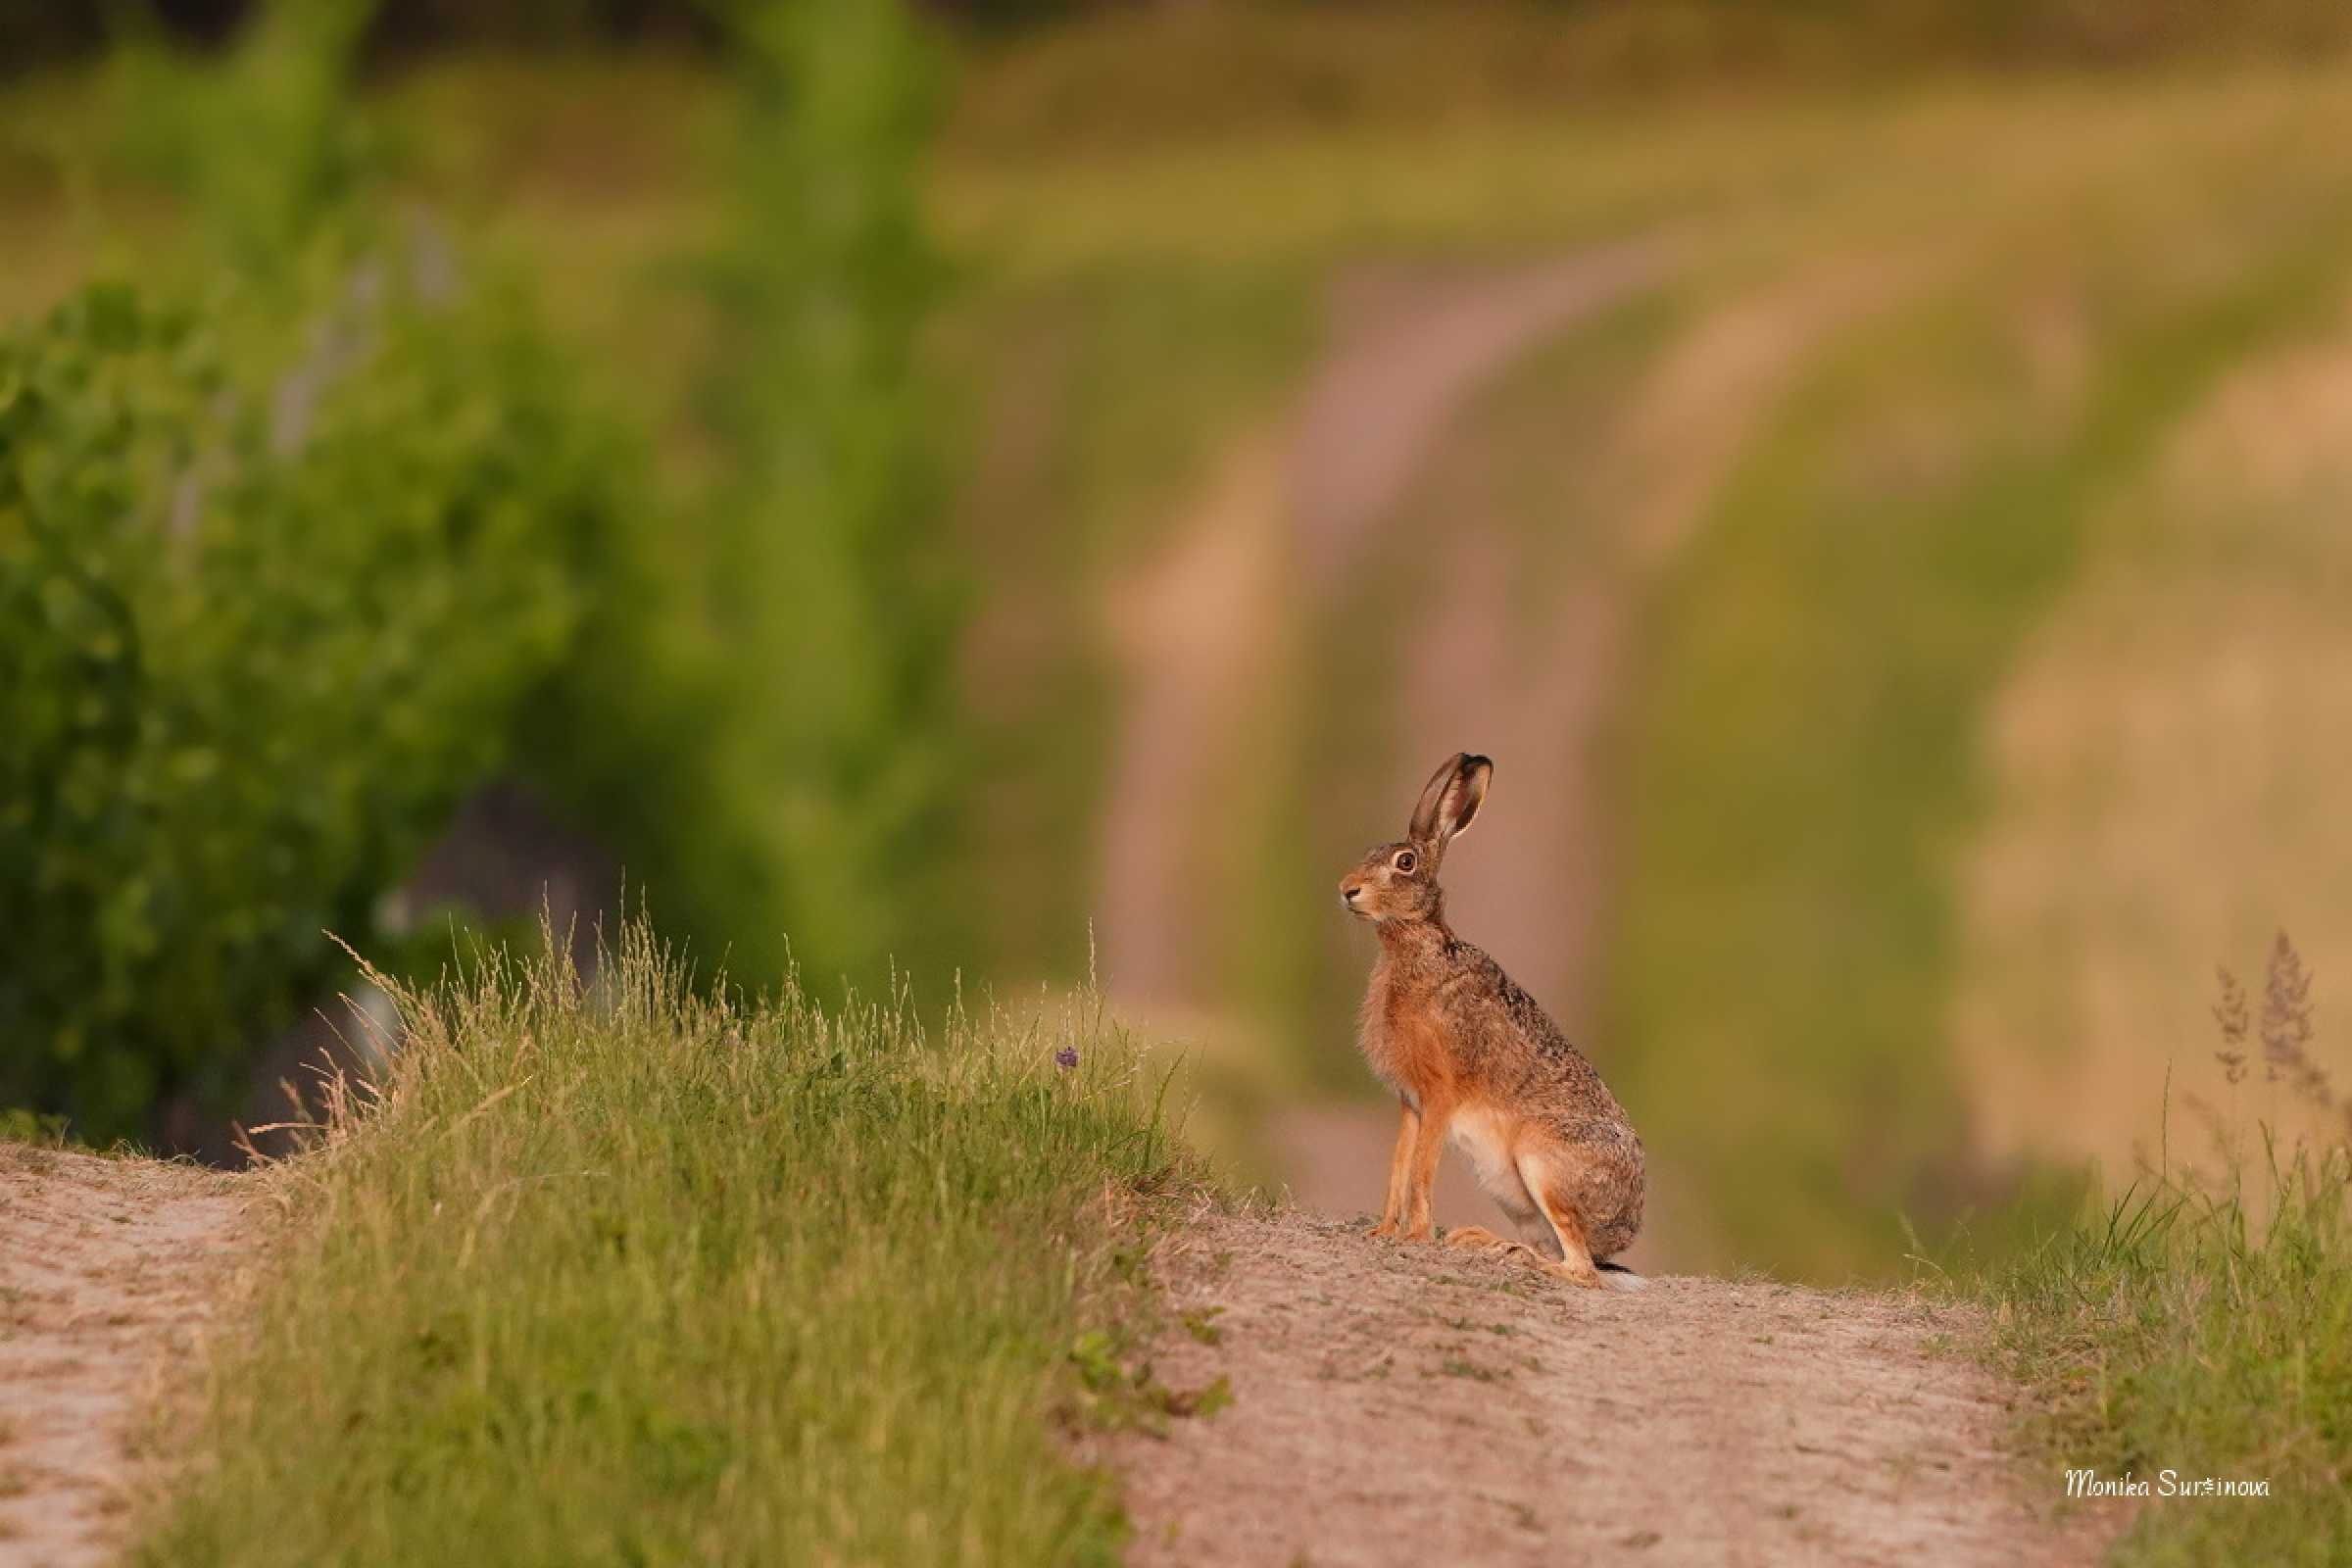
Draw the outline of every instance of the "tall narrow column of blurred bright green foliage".
M960 592L938 531L915 329L931 80L908 16L866 0L734 12L743 115L710 287L724 477L708 602L724 651L715 809L748 853L682 846L736 969L779 938L818 985L931 947L922 882L950 830ZM722 917L724 919L717 919Z

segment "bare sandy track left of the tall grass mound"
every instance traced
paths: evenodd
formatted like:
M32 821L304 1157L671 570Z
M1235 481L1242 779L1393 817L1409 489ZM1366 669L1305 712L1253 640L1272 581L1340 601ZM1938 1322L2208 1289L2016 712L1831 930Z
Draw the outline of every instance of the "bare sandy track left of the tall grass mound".
M238 1182L0 1145L0 1563L103 1563L162 1458L141 1441L230 1272Z

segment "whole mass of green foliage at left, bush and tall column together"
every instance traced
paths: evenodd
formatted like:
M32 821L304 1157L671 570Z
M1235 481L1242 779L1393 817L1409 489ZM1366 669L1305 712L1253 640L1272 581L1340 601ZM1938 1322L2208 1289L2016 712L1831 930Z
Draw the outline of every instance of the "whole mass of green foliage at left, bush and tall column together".
M322 931L393 952L379 903L501 773L746 980L793 931L880 985L929 903L957 607L906 16L734 16L699 491L649 482L527 277L390 200L369 16L132 38L120 143L188 240L0 348L0 1105L85 1138L240 1086L343 973Z

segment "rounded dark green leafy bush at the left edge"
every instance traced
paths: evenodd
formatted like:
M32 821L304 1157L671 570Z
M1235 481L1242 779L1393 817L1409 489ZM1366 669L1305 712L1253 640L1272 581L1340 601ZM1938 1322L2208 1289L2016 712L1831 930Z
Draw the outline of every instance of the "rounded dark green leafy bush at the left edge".
M581 614L600 458L510 301L310 306L270 378L111 284L0 341L0 1103L85 1138L325 992Z

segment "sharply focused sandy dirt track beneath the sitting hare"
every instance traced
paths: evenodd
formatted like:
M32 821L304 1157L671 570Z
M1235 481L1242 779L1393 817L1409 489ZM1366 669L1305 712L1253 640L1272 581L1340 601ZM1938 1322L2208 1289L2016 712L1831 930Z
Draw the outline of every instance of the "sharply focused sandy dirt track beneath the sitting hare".
M1576 1291L1296 1211L1160 1255L1171 1387L1235 1403L1127 1434L1129 1563L2084 1563L2002 1453L1973 1321L1910 1295L1653 1279ZM1181 1326L1207 1316L1214 1345ZM1195 1316L1202 1321L1202 1316Z

